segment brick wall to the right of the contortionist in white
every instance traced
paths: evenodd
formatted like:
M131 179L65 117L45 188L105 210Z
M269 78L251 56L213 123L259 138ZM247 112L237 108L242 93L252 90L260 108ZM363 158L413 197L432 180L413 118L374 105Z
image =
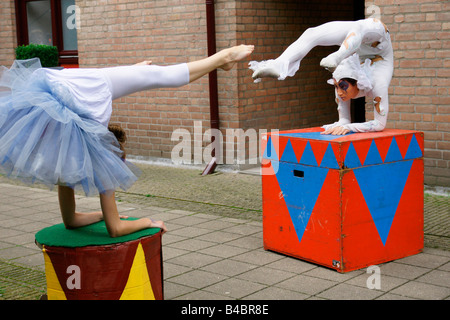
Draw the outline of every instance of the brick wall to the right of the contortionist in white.
M374 5L390 29L395 55L388 127L423 131L425 183L450 186L450 3L376 0Z

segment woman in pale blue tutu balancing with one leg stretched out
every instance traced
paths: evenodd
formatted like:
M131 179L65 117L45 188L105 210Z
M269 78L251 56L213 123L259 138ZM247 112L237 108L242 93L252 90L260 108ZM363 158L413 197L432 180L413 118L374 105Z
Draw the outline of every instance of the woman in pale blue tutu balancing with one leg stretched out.
M217 68L230 70L253 49L236 46L171 66L144 61L114 68L54 70L31 59L15 61L10 69L1 67L0 172L58 185L66 228L104 219L112 237L151 227L165 232L162 221L120 219L115 190L127 190L137 176L125 161L124 140L118 141L108 129L112 100L142 90L180 87ZM75 189L87 196L99 194L102 211L77 212Z

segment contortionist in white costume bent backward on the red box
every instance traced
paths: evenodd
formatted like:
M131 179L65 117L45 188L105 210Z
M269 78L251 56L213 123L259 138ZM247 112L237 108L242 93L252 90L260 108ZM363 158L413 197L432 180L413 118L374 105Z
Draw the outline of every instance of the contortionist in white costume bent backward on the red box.
M316 46L338 45L339 50L320 65L333 72L328 80L336 88L339 121L324 125L324 134L381 131L389 113L388 88L394 70L389 30L379 20L334 21L307 29L278 58L251 61L255 82L272 77L284 80L295 75L301 60ZM351 123L350 100L368 96L374 102L374 120Z

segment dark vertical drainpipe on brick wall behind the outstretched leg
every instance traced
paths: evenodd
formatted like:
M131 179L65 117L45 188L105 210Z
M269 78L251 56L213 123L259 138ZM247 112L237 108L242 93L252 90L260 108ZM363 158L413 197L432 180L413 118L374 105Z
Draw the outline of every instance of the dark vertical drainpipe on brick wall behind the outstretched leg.
M208 39L208 56L216 53L216 19L214 14L214 0L205 0L206 4L206 31ZM217 89L217 70L209 73L209 109L211 129L219 129L219 95ZM211 161L203 170L202 176L213 173L217 166L216 150L220 141L214 140ZM219 151L220 152L220 151Z

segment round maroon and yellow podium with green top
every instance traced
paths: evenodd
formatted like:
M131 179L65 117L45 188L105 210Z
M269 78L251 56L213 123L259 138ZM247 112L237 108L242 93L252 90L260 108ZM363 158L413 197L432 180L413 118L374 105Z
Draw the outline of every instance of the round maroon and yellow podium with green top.
M129 218L133 219L133 218ZM49 300L163 300L161 230L111 238L104 221L36 233Z

